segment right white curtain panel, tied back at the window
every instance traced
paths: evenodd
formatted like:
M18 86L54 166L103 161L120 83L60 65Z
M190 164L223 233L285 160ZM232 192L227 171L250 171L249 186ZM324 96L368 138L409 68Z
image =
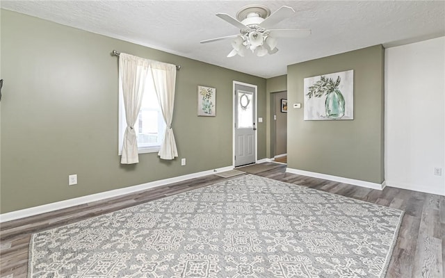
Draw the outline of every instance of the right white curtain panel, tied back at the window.
M164 141L158 155L161 159L172 160L178 156L175 135L172 129L173 108L175 106L176 65L152 61L154 88L167 125Z

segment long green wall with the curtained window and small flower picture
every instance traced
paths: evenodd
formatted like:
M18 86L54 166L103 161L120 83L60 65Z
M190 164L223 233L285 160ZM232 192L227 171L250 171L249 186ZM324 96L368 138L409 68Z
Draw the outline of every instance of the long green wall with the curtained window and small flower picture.
M172 122L179 158L118 156L118 58L111 51L181 65ZM222 59L225 57L222 57ZM232 81L266 79L1 10L1 213L232 165ZM216 88L216 117L197 117L197 85ZM258 125L266 158L266 122ZM68 186L68 175L78 184Z

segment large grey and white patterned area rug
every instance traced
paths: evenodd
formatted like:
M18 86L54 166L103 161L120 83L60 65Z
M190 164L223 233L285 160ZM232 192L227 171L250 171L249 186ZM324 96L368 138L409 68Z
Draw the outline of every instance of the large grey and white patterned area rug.
M385 277L402 217L245 175L33 234L29 277Z

